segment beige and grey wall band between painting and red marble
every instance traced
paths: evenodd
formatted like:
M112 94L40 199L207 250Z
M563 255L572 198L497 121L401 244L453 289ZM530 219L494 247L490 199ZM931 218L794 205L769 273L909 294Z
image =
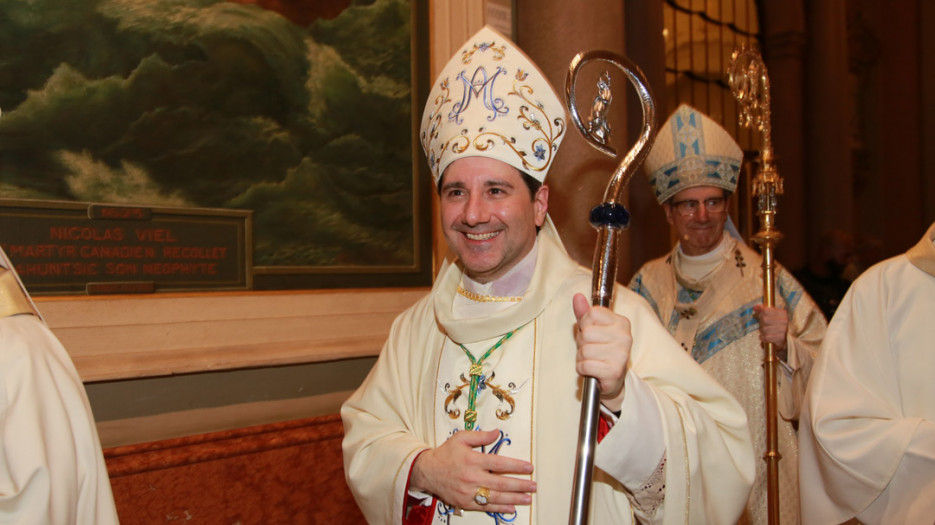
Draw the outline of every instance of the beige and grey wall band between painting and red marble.
M104 446L335 413L426 289L37 299Z

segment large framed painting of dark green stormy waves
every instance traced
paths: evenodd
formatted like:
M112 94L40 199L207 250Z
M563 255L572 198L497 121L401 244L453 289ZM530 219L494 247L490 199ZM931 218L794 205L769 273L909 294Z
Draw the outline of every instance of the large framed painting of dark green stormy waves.
M0 0L0 199L246 213L253 289L427 285L427 20L424 0Z

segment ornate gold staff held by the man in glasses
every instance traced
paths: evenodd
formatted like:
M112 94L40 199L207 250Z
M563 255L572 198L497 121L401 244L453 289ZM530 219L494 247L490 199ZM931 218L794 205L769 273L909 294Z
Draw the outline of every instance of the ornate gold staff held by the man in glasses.
M760 231L753 241L760 245L763 255L763 304L776 303L776 276L773 248L782 239L775 227L777 197L782 194L782 177L773 165L773 145L770 129L769 75L760 53L741 45L731 54L727 68L728 82L740 104L740 125L756 127L763 137L760 148L760 167L753 180L753 194L757 197L757 215ZM777 427L777 374L779 358L772 343L763 343L766 350L766 460L767 517L773 525L779 524L779 431Z

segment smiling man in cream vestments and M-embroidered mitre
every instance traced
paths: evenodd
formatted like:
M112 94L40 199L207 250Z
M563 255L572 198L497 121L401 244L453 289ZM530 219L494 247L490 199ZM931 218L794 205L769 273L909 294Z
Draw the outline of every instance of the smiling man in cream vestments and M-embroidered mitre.
M591 272L549 219L565 123L539 69L488 28L434 84L422 146L457 259L342 408L369 523L568 520L582 375L603 404L593 523L729 524L743 508L754 459L737 401L632 292L592 307Z

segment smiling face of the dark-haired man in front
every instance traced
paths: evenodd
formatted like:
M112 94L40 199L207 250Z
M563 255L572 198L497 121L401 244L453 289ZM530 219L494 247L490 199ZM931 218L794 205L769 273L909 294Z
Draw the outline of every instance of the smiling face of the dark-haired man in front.
M487 157L452 162L440 182L442 229L468 277L494 281L532 250L547 186L531 196L519 170Z

